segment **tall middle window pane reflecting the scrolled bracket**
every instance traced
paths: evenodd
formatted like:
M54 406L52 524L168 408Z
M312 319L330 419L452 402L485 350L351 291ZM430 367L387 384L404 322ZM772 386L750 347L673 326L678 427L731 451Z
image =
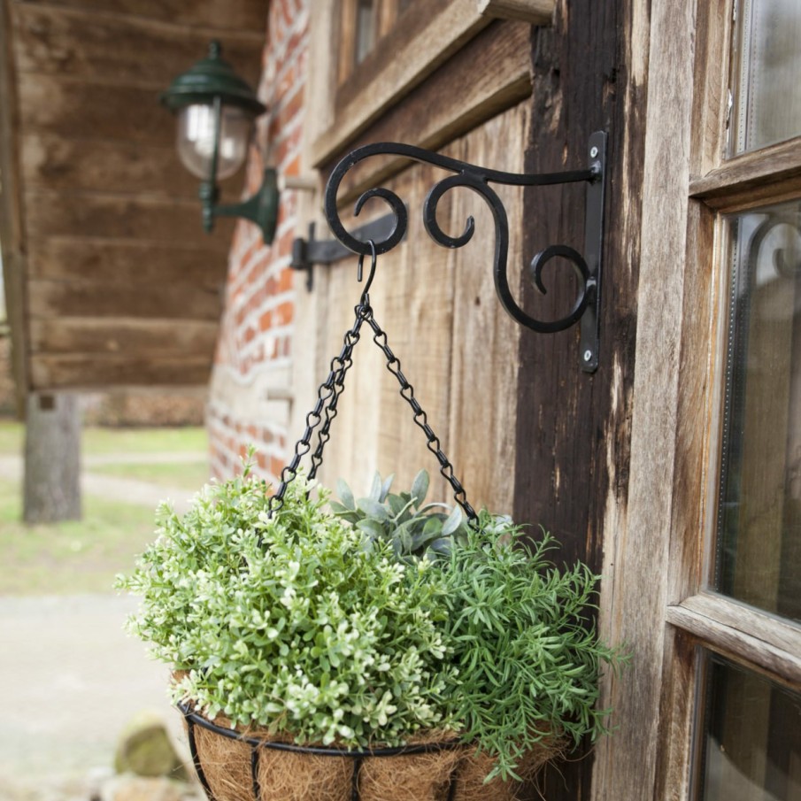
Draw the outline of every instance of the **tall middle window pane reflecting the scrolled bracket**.
M715 586L801 620L801 201L731 215Z

